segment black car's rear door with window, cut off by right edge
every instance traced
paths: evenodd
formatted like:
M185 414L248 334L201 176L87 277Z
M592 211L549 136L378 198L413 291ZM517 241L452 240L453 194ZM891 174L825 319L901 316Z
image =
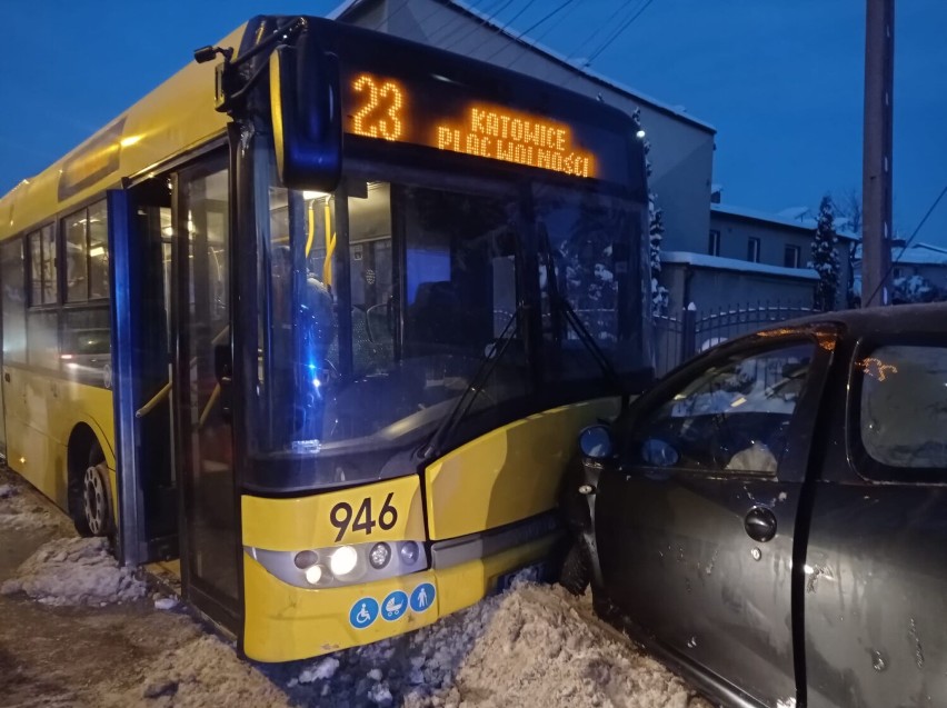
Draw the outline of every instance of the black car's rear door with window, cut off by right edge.
M860 341L829 393L848 405L803 565L810 708L947 705L947 336L928 326Z

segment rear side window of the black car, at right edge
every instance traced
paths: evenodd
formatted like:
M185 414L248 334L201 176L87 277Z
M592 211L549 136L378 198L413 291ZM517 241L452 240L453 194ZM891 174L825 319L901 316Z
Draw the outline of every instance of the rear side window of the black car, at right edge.
M855 366L861 377L858 430L870 458L861 467L879 478L927 470L930 481L943 481L947 347L879 347L859 357Z

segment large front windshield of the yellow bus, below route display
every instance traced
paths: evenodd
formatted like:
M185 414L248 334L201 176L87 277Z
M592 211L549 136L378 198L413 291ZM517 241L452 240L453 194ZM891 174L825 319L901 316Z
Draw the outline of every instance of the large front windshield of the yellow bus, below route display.
M646 300L628 278L642 268L639 207L591 189L440 177L349 177L332 195L268 187L248 429L259 456L316 460L309 486L387 476L381 462L367 468L370 452L416 450L461 397L485 428L588 398L604 372L579 330L610 369L647 367L630 325Z

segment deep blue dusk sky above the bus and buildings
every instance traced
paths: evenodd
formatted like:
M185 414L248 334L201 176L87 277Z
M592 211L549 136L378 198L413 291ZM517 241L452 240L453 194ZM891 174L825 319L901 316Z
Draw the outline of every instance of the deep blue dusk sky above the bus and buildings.
M8 0L0 44L0 193L42 170L261 13L326 0ZM474 0L524 31L561 2ZM400 0L392 0L399 8ZM647 6L647 7L646 7ZM607 47L612 28L640 16ZM529 34L717 128L724 201L779 211L861 185L863 0L576 0ZM910 235L947 186L947 2L896 17L895 228ZM600 52L600 53L599 53ZM516 68L511 50L502 63ZM655 146L660 150L660 146ZM947 199L917 241L947 246Z

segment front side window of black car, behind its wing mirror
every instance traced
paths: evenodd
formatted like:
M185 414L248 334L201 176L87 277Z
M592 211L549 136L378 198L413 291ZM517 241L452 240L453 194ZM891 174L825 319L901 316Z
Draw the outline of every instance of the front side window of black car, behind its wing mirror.
M775 475L814 352L814 342L796 341L714 361L636 421L631 459L708 473Z

